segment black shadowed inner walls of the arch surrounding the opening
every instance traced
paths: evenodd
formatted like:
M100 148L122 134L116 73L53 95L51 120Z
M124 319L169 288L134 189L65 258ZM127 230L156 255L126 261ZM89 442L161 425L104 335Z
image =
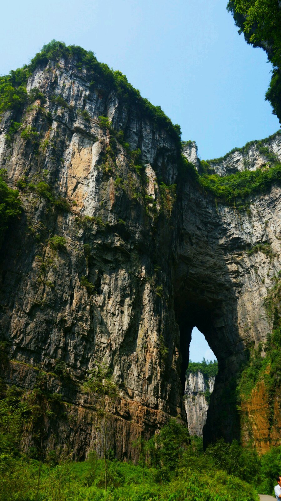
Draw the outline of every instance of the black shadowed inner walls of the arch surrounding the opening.
M204 334L218 362L218 372L206 411L206 421L202 424L204 445L206 446L218 437L223 437L227 441L233 438L239 439L240 425L233 381L239 367L238 357L240 357L242 345L236 329L235 302L231 301L226 293L224 298L214 293L208 298L206 294L200 297L196 289L194 294L190 294L188 290L186 295L183 292L185 291L181 289L181 294L177 296L174 303L179 327L181 355L179 375L182 398L185 395L191 333L196 326ZM226 399L225 394L228 395ZM224 400L223 409L221 408L222 399Z

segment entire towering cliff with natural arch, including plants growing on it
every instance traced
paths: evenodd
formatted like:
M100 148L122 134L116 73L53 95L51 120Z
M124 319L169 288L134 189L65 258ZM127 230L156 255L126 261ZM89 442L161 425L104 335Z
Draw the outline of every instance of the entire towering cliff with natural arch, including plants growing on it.
M200 160L124 75L55 41L0 77L0 113L1 436L136 463L208 387L204 449L281 445L281 133ZM218 372L188 386L194 326Z

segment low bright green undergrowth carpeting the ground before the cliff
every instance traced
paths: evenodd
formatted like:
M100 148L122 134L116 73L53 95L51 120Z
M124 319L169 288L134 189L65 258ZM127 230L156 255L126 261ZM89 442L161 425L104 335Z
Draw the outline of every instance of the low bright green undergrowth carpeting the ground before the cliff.
M153 467L108 462L104 489L103 462L64 461L51 466L14 460L2 464L0 501L258 501L254 488L225 471L181 467L169 482L159 482Z

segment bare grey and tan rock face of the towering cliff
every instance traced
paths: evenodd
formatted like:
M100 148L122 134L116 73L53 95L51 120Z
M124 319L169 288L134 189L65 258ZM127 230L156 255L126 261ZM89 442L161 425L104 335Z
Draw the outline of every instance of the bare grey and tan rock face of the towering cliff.
M221 415L221 398L248 348L271 328L263 299L280 270L280 189L255 197L248 213L217 206L178 171L168 133L106 82L93 88L85 71L61 60L38 68L27 90L33 87L46 103L33 103L20 120L7 112L0 124L8 182L29 183L20 221L1 249L0 334L12 359L1 377L31 391L44 375L47 391L65 402L64 417L44 423L45 446L67 442L81 458L96 437L82 383L104 362L119 393L109 409L111 446L132 458L141 433L150 436L170 416L186 420L182 396L196 325L219 368L204 439L239 437L235 402ZM9 144L11 119L22 126ZM26 140L23 129L38 135ZM129 150L138 148L136 162ZM55 235L64 238L60 245ZM248 256L260 242L271 255ZM67 378L55 376L58 363Z

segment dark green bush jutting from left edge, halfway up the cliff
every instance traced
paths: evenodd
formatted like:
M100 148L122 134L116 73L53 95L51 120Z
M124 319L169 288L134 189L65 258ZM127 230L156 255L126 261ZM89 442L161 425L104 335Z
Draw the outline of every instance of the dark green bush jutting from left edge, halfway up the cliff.
M0 169L0 244L11 221L21 212L18 191L8 187L5 170Z

